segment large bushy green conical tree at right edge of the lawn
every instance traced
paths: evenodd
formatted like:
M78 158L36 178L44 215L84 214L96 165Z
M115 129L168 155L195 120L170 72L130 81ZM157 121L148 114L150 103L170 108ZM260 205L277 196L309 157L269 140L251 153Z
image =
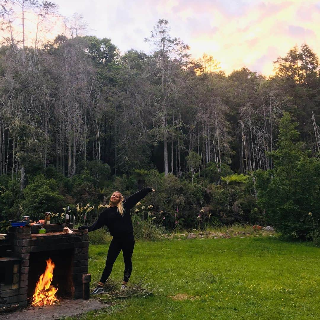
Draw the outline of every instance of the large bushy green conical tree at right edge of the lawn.
M266 209L268 222L284 235L305 239L312 232L308 212L315 220L320 218L320 159L303 151L295 126L284 114L278 149L271 153L275 167L255 176L258 201Z

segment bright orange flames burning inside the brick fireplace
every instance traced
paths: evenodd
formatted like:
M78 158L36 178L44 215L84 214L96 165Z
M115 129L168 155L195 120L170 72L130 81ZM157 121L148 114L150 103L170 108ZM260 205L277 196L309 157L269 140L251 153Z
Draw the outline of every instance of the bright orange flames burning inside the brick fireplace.
M53 304L56 301L59 301L55 294L58 291L58 288L55 288L51 285L53 277L54 263L51 258L46 260L47 267L45 268L44 273L40 276L36 284L36 290L32 296L32 306L41 307L47 304Z

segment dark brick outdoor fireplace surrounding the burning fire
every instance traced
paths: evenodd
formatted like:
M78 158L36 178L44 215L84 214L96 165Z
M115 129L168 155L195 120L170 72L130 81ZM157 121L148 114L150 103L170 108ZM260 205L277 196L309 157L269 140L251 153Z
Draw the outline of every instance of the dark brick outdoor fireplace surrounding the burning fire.
M32 234L31 227L9 228L0 240L0 308L28 306L49 258L55 264L52 285L58 287L58 299L89 298L88 232L63 233L65 226L45 226L45 234Z

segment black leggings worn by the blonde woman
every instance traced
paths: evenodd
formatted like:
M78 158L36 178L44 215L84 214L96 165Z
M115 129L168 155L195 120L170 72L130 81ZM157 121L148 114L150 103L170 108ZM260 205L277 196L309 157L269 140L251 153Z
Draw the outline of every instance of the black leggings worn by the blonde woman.
M122 250L124 260L124 276L123 281L128 282L132 272L132 253L134 248L134 236L133 233L123 238L113 238L111 240L108 256L106 260L106 266L102 272L100 279L101 283L105 283L110 276L113 264L116 261L117 256Z

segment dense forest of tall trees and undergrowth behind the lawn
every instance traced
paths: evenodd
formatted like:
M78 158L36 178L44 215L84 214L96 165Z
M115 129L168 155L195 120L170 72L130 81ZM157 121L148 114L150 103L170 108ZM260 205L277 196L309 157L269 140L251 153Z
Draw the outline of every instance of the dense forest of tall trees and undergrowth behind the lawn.
M2 22L10 31L4 6ZM168 230L238 222L319 236L320 68L308 44L278 57L274 76L226 75L190 56L167 20L146 35L149 53L72 30L41 46L9 32L0 47L0 221L61 219L70 205L91 223L113 191L151 186L142 219Z

